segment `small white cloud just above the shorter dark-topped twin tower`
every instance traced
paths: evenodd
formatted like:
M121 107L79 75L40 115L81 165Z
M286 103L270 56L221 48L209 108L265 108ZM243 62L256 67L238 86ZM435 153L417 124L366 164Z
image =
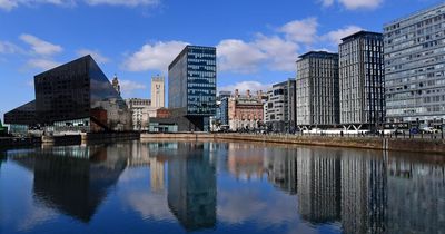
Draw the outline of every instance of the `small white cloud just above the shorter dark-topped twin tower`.
M294 20L284 25L279 31L286 33L288 40L300 43L313 43L317 39L317 18Z

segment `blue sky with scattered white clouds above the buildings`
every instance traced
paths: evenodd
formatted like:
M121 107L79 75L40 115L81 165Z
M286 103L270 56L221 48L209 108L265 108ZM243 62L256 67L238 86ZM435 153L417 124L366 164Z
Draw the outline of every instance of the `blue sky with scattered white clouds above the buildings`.
M0 115L34 99L33 76L91 55L122 97L150 97L186 45L217 47L218 90L295 78L310 50L438 0L0 0Z

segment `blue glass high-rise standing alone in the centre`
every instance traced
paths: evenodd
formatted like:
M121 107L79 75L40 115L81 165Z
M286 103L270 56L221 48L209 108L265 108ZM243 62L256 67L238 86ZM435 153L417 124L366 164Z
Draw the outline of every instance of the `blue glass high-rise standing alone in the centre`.
M189 120L179 130L208 130L216 114L216 48L187 46L168 67L168 107Z

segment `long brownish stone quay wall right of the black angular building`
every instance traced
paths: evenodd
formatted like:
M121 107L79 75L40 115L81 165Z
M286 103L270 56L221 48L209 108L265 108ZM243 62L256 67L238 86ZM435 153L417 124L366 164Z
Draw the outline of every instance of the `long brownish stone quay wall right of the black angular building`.
M413 153L433 153L445 155L445 140L442 139L403 139L379 137L333 137L295 135L254 135L254 134L141 134L141 139L214 139L237 142L261 142L295 145L365 148L377 150L398 150Z

